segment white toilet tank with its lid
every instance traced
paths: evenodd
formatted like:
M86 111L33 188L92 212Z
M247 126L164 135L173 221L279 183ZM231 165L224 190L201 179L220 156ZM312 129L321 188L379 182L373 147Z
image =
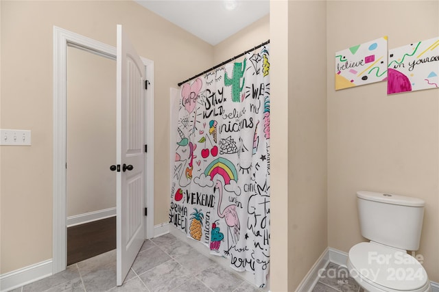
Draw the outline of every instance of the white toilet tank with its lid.
M418 250L425 202L419 198L357 191L361 235L401 250Z

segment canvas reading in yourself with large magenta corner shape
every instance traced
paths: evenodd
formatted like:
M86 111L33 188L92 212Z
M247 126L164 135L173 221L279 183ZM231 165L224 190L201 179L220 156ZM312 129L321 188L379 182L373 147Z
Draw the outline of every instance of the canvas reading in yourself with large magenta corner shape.
M439 38L389 50L388 94L438 88Z

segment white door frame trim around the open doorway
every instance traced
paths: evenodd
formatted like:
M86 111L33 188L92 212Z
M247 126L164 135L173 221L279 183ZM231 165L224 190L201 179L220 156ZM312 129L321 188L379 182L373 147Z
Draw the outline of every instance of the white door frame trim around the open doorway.
M52 273L67 267L67 47L76 47L110 59L116 48L54 26L54 161L53 161L53 258ZM145 237L154 237L154 62L141 57L150 83L145 93ZM115 158L116 159L116 158ZM108 161L108 167L114 162ZM110 170L108 170L110 171Z

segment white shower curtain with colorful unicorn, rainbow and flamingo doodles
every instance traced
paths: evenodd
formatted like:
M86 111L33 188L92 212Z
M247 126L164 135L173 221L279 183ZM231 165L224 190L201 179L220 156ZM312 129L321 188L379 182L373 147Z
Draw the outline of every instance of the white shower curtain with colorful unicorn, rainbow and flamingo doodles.
M169 222L254 273L270 263L268 46L182 85Z

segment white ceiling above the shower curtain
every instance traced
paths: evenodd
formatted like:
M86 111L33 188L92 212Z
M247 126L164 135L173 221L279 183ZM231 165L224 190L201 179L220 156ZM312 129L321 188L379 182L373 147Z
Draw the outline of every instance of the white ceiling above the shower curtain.
M134 1L213 46L270 12L269 0Z

